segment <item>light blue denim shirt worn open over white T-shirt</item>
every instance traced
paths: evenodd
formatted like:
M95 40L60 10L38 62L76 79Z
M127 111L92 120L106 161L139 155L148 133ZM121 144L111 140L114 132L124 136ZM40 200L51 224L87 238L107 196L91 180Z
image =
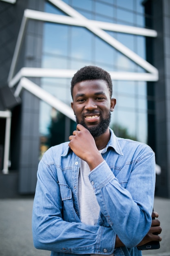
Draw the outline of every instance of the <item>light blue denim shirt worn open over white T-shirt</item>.
M104 161L89 173L100 206L95 226L80 222L80 159L68 142L49 148L40 160L32 218L37 249L51 256L141 255L135 246L151 226L155 154L146 144L110 133ZM116 234L124 247L115 248Z

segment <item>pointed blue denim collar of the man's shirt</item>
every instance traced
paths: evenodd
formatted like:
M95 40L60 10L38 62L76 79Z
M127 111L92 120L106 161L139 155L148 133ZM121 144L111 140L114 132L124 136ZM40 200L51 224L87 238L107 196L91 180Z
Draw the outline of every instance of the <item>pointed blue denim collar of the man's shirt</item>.
M122 150L121 150L120 144L118 142L118 139L117 139L117 137L116 137L116 135L115 135L115 133L113 132L112 129L110 129L110 140L108 141L108 144L107 144L106 148L104 148L102 153L105 153L107 151L108 147L114 148L114 150L116 151L117 154L124 155L122 153ZM72 151L71 148L69 148L69 147L66 148L66 150L64 151L62 156L63 157L66 156L70 151Z

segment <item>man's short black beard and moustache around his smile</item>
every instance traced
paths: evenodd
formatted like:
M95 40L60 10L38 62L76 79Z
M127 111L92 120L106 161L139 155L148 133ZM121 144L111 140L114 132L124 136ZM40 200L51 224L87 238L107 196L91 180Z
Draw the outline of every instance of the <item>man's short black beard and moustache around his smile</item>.
M86 114L95 114L95 112L88 112ZM98 112L97 112L98 114ZM102 134L104 134L107 130L107 128L109 127L110 124L110 120L111 120L111 112L108 112L108 116L106 118L104 118L102 116L102 114L100 114L101 117L101 121L99 124L97 125L91 125L91 126L87 126L84 122L84 115L82 116L82 121L78 121L77 117L76 117L76 122L77 124L81 124L82 126L84 126L84 128L86 128L87 130L89 130L89 132L91 133L91 135L93 136L93 138L97 138L99 136L101 136Z

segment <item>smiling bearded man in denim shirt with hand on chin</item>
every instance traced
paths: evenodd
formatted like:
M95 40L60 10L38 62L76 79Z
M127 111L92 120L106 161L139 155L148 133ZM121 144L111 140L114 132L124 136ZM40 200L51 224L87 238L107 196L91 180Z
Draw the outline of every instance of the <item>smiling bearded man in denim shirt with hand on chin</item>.
M152 213L155 155L146 144L117 138L109 128L110 74L95 66L71 81L77 130L46 151L38 167L33 240L51 255L138 256L137 245L161 240ZM157 226L158 227L151 227Z

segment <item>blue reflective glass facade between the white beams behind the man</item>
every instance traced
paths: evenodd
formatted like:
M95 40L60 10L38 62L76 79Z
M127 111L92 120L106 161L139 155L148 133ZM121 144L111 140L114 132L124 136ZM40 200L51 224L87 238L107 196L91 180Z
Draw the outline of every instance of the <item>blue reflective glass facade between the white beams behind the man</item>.
M145 15L141 0L64 0L63 2L90 20L144 27ZM45 3L44 11L66 15L48 1ZM141 58L146 59L144 36L106 32ZM42 67L78 70L85 65L97 65L108 72L145 72L142 67L84 27L44 22ZM41 86L70 106L70 82L71 79L44 78ZM113 97L117 99L117 105L112 113L110 127L115 130L117 136L147 143L147 83L114 80ZM41 145L46 145L45 150L50 146L51 125L54 119L60 120L60 116L61 114L51 106L41 102L40 136ZM66 119L63 117L65 121L63 123L59 121L56 125L58 131L62 126L63 141L68 140L67 135L75 127L73 121L67 122Z

